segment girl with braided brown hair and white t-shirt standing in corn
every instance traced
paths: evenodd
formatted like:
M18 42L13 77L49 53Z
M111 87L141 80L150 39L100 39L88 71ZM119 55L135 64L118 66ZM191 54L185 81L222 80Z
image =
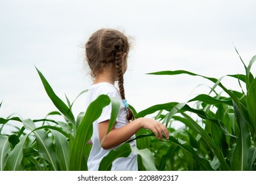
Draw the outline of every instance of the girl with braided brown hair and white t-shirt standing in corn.
M88 158L88 170L98 170L101 159L111 149L116 149L128 139L133 139L134 134L141 128L151 129L158 139L163 139L163 135L168 139L168 130L160 122L149 118L133 120L132 111L128 108L124 96L123 75L127 68L128 51L128 39L118 30L98 30L86 43L86 60L93 77L86 107L102 94L118 97L121 104L116 124L106 136L111 117L111 105L105 106L101 116L93 122L91 137L93 146ZM115 81L118 81L119 91L115 87ZM103 137L105 139L101 145ZM136 141L132 141L130 145L136 147ZM111 170L138 170L137 155L132 152L127 158L117 158Z

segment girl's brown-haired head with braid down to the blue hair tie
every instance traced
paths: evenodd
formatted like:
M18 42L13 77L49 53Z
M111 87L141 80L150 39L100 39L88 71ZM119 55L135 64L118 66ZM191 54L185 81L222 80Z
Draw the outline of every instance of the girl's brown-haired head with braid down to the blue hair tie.
M126 58L129 43L126 35L118 30L101 29L93 33L86 43L86 60L91 69L91 76L97 78L105 68L113 67L118 78L120 96L124 96L123 73L126 70Z

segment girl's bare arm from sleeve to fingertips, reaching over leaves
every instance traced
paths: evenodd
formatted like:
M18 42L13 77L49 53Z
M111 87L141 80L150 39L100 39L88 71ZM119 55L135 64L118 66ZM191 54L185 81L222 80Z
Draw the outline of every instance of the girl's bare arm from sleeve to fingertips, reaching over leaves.
M107 133L109 127L109 120L99 123L99 141L101 142ZM106 135L101 147L103 149L111 149L127 141L132 135L134 135L141 128L151 129L158 139L163 139L163 134L168 139L168 129L157 122L156 120L149 118L138 118L133 122L130 122L126 126L114 129L114 127Z

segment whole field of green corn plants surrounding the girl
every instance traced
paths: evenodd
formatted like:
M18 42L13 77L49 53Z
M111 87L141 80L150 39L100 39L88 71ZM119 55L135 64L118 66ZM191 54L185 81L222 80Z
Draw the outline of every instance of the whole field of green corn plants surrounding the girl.
M213 82L213 87L209 94L190 99L188 103L194 103L193 107L178 102L155 104L141 112L132 107L135 118L153 116L165 124L170 132L169 139L159 140L151 131L140 129L136 133L137 148L124 143L111 150L101 161L99 170L111 170L113 160L127 157L131 152L138 154L139 170L256 170L256 78L251 74L256 55L248 65L240 59L245 74L225 76L238 81L240 91L227 89L221 83L222 78L185 70L150 73L156 78L157 75L166 78L180 74L187 74L190 78L197 76ZM112 127L120 104L116 99L101 95L86 112L75 118L72 113L74 102L70 103L66 97L64 103L38 68L36 70L57 110L41 120L17 116L0 118L0 170L88 170L86 162L91 145L86 143L92 135L92 123L99 118L101 110L111 104L109 127ZM220 87L223 93L217 93L216 87ZM82 91L78 97L86 92ZM52 118L56 116L63 116L63 121ZM14 121L20 123L20 128L8 135L1 133ZM184 127L174 129L171 124L177 121Z

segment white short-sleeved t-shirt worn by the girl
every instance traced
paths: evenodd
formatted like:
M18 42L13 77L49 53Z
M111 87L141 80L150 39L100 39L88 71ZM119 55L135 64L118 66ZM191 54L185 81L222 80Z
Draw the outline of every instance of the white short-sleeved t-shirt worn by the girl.
M120 97L120 94L118 92L118 89L116 89L115 85L112 85L111 83L102 82L102 83L96 83L91 85L88 91L88 96L86 99L86 108L88 108L89 104L97 99L99 95L108 95L109 97L118 97L120 99L120 110L118 117L116 118L116 124L115 129L118 129L122 126L125 126L128 122L126 120L126 110L124 108L124 104L122 103L122 99ZM107 156L109 153L109 150L105 150L101 147L100 141L99 141L99 123L104 122L106 120L110 120L111 118L111 104L108 106L105 106L103 108L103 111L101 113L101 116L93 122L93 135L91 136L91 141L93 143L93 146L91 148L91 152L88 158L88 170L98 170L99 164L101 162L101 159L104 156ZM135 135L133 135L130 139L134 139ZM130 143L131 147L136 147L136 141L132 141ZM115 147L113 149L118 148ZM127 157L121 157L117 158L112 163L112 169L111 170L138 170L138 164L137 164L137 154L134 152L131 152L131 154Z

